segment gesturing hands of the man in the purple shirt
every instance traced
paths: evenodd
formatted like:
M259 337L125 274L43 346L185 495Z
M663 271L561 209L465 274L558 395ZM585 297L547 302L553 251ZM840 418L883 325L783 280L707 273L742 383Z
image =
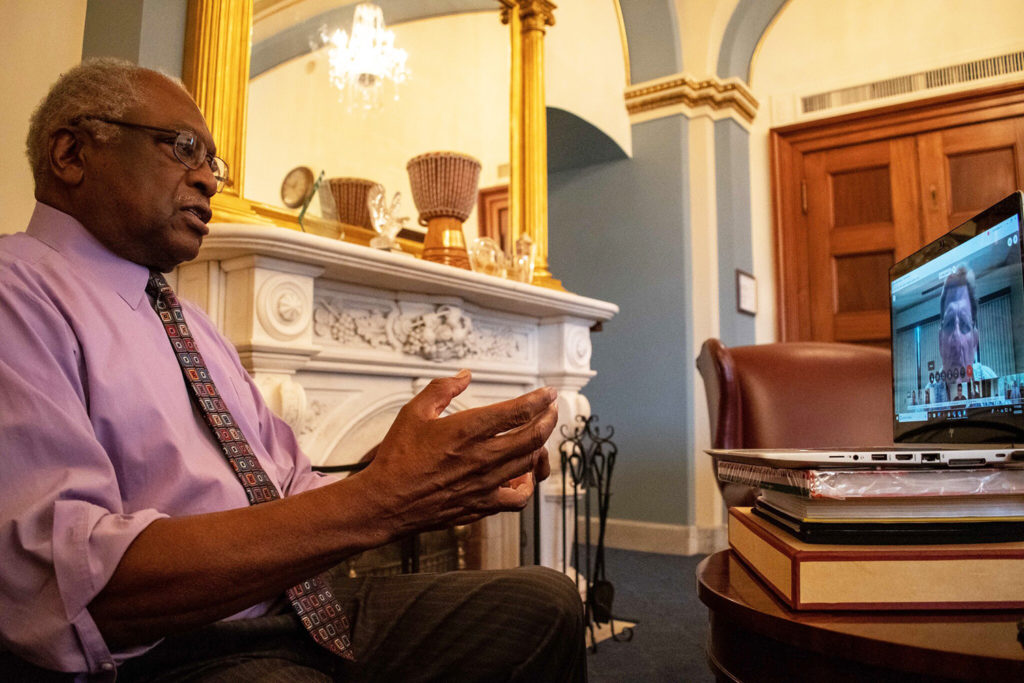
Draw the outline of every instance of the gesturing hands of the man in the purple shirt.
M430 382L398 412L371 465L349 477L372 487L398 535L521 510L551 472L544 442L558 419L557 392L440 417L469 381L464 370Z

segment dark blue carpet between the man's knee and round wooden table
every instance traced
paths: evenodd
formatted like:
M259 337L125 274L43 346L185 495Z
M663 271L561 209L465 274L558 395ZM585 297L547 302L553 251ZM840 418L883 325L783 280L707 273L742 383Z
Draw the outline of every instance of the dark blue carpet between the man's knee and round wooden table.
M636 622L633 640L604 640L588 655L591 683L711 683L705 657L708 609L697 598L702 555L605 550L615 587L612 612Z

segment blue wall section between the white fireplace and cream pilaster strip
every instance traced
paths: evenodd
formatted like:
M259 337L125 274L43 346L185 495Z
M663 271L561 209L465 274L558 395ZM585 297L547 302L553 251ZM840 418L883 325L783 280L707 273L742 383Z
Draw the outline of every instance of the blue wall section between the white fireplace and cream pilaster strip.
M616 518L691 517L687 130L682 116L635 125L633 159L548 179L552 272L622 309L592 337L597 377L584 389L600 424L615 427Z

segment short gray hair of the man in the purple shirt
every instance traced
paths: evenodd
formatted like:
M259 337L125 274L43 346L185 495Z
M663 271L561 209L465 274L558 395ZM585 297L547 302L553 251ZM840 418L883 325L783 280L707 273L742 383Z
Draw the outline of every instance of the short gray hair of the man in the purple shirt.
M49 175L50 136L65 126L78 125L100 142L116 140L121 134L120 128L83 118L123 117L140 103L138 83L143 74L159 76L184 89L178 79L114 57L86 59L60 75L32 113L29 124L26 153L37 188Z

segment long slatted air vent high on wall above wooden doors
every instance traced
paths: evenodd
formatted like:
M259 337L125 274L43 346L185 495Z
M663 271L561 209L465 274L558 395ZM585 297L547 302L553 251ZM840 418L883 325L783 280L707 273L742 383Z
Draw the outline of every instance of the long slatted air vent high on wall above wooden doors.
M819 92L800 98L803 114L812 114L847 104L856 104L872 99L883 99L911 92L941 88L957 83L969 83L983 78L1005 76L1024 72L1024 51L1001 54L997 57L987 57L966 61L952 67L943 67L931 71L923 71L908 76L897 76L884 81L855 85L829 92Z

